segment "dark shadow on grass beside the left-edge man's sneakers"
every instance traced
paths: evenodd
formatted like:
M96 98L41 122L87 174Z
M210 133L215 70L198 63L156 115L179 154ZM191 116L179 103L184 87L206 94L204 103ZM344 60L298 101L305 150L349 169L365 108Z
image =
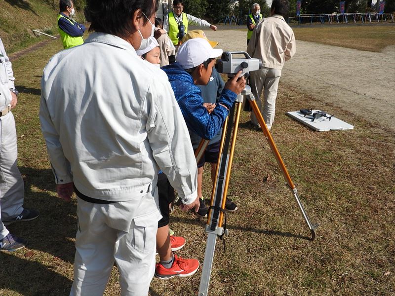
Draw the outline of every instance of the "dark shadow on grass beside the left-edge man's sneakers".
M14 223L11 233L28 240L27 247L74 262L77 232L77 205L54 196L55 183L50 169L20 167L25 177L26 208L37 209L40 217L30 222Z

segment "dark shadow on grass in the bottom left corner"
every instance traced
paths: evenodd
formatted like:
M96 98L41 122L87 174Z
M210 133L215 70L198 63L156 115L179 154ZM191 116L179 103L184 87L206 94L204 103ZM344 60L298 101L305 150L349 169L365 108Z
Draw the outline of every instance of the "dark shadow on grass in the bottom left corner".
M72 281L60 275L56 265L44 266L9 253L0 253L0 264L0 290L8 289L32 296L68 295L70 292Z

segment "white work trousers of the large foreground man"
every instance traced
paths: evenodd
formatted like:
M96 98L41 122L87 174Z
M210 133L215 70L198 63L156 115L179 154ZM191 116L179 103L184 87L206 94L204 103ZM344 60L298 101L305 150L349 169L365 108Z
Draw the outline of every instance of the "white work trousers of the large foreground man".
M112 204L94 204L77 198L78 231L71 296L103 295L114 260L121 295L148 295L155 272L156 234L161 219L157 191Z

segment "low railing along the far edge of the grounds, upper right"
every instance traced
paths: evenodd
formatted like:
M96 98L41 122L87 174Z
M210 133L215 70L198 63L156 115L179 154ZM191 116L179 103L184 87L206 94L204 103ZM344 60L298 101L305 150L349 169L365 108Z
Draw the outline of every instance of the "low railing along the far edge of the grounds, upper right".
M379 22L393 22L395 13L365 12L365 13L339 13L339 14L301 14L300 16L292 16L288 18L288 23L298 24L313 24L313 23L379 23Z

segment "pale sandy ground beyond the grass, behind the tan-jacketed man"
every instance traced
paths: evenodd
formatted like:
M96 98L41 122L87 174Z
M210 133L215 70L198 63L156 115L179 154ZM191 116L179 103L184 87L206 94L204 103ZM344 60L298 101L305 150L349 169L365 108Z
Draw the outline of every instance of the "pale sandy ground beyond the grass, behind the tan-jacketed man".
M220 42L218 48L246 50L244 31L205 33ZM281 83L395 131L394 46L373 53L299 40L296 45L297 53L285 63Z

